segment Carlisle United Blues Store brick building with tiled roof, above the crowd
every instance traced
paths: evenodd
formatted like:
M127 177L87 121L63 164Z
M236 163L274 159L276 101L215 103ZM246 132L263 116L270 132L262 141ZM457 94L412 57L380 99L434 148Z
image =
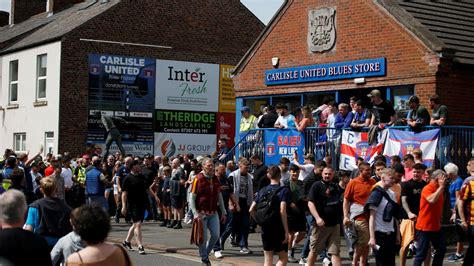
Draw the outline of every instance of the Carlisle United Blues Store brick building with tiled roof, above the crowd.
M451 125L472 125L473 17L467 0L287 0L236 68L237 108L379 89L402 114L409 96L429 109L438 94Z

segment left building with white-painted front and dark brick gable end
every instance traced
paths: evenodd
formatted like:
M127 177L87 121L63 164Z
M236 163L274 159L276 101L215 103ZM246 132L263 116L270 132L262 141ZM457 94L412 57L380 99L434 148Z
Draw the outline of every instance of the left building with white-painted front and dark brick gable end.
M235 66L264 28L238 0L14 0L11 21L0 148L73 154L86 144L90 54Z

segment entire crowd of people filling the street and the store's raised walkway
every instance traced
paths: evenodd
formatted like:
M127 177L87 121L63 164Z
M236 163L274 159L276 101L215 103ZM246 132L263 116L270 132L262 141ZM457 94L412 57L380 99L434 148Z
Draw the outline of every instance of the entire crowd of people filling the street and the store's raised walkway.
M354 129L399 122L416 129L447 121L447 110L436 96L430 98L432 109L438 110L431 118L412 96L412 111L401 119L379 91L368 96L371 109L351 98L350 105L329 101L316 110L304 106L296 118L285 105L276 106L278 115L267 106L259 118L244 107L240 130L303 131L315 119L319 125ZM340 265L341 235L353 265L366 265L371 251L377 265L395 265L398 250L400 265L410 257L414 265L431 259L442 265L446 243L441 218L443 204L449 202L458 238L448 260L473 263L474 252L464 252L463 243L469 240L472 249L474 159L467 165L471 177L463 179L453 163L427 168L421 150L403 158L378 156L372 165L357 158L352 172L334 169L331 157L316 160L310 153L303 163L295 153L293 161L283 157L278 165L267 166L257 154L234 162L228 151L225 139L212 155L197 157L101 157L102 150L94 147L81 156L66 152L43 158L42 151L31 156L7 149L0 161L1 262L130 265L125 250L132 250L134 239L139 254L146 253L142 226L151 220L169 230L193 223L193 242L206 265L211 252L223 257L228 239L241 254L252 253L248 237L258 227L265 265L272 265L274 255L277 265L314 265L318 260ZM111 216L115 223L130 224L120 246L104 242Z

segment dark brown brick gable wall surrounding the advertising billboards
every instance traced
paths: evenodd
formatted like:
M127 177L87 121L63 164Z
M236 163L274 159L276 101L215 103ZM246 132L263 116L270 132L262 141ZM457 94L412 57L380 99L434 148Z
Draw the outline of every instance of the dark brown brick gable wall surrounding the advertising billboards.
M90 53L236 65L262 30L261 22L235 0L123 1L109 9L63 38L58 151L84 149Z

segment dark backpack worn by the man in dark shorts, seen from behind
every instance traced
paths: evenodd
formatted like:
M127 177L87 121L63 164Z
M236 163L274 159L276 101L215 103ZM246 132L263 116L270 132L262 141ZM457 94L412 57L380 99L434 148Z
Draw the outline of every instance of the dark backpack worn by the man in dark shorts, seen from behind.
M284 187L267 190L257 203L257 211L255 213L255 222L260 226L273 224L276 217L280 214L280 202L276 195Z

